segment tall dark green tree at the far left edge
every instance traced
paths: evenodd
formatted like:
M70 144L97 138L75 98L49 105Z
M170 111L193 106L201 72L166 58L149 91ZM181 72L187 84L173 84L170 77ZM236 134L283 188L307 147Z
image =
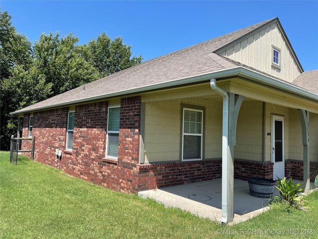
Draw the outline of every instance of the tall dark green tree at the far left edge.
M17 131L17 119L9 113L23 105L23 102L30 103L22 97L19 88L26 83L20 74L24 74L32 63L31 43L11 26L10 20L11 16L7 11L0 11L1 150L8 148L11 134ZM22 82L17 81L15 76L21 78ZM30 89L29 86L26 89Z

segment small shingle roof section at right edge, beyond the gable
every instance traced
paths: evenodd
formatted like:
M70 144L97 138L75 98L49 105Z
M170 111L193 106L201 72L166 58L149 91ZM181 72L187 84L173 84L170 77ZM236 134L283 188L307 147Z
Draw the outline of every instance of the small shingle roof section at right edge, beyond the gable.
M303 72L292 83L318 95L318 70Z

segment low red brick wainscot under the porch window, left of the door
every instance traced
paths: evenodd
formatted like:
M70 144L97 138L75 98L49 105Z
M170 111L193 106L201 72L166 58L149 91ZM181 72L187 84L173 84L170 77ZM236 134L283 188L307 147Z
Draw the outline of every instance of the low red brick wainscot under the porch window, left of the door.
M221 178L221 160L139 164L138 190L200 182Z

